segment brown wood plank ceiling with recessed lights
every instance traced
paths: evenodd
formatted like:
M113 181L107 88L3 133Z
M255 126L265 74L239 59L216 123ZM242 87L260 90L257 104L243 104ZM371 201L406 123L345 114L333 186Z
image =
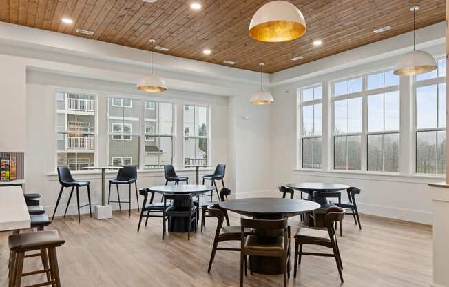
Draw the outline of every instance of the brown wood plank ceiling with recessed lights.
M255 11L270 0L0 0L0 21L149 50L150 38L168 55L223 63L264 72L315 61L345 50L413 30L410 6L418 4L417 27L444 21L444 0L290 0L307 23L304 37L286 43L262 43L248 36ZM69 17L73 24L65 24ZM393 29L375 34L373 30ZM79 34L76 29L94 32ZM314 40L322 46L313 46ZM209 48L211 55L203 55ZM157 51L159 52L159 51ZM291 61L302 56L304 59ZM156 56L157 57L157 56Z

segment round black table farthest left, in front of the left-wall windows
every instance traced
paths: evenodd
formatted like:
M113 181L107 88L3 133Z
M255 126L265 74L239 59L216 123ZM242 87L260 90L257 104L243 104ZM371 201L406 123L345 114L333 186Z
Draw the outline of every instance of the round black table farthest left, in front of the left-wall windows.
M158 192L161 195L201 195L202 193L214 190L213 186L205 186L202 184L181 184L181 185L169 185L169 186L153 186L149 188L154 192ZM189 208L191 201L185 200L173 200L171 206L176 209ZM187 232L189 219L187 217L173 217L170 219L168 230L170 232ZM194 222L192 223L191 230L194 230Z

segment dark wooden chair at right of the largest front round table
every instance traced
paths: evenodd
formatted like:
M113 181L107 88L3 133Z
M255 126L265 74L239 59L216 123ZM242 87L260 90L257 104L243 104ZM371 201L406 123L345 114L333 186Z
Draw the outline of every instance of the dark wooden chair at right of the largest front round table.
M340 274L340 280L343 283L342 275L342 257L340 257L340 250L338 249L337 237L335 236L334 223L342 221L344 218L345 210L340 207L331 207L326 210L324 222L327 230L317 230L311 228L300 228L295 235L295 273L293 277L296 278L298 260L301 264L302 255L314 255L314 256L328 256L335 257L337 263L338 273ZM305 244L320 245L327 248L332 248L333 253L311 253L303 252L302 246ZM298 248L299 247L299 248Z

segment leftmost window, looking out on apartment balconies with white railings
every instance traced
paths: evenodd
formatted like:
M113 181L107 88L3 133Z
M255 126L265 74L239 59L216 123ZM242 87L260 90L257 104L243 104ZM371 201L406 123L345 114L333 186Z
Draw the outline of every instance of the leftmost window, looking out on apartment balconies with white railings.
M96 95L58 91L56 165L83 170L95 164Z

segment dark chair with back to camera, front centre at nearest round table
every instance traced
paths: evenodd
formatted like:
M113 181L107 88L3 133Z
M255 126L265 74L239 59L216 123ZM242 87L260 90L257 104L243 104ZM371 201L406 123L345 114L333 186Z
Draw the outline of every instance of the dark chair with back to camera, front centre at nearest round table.
M240 219L240 287L243 287L244 257L249 256L251 270L251 256L281 257L282 270L284 270L284 287L287 286L287 277L290 277L290 230L287 219L260 220ZM282 230L282 236L267 237L261 235L247 235L247 228L257 229L264 234L273 234L273 231ZM252 273L252 270L251 270Z

